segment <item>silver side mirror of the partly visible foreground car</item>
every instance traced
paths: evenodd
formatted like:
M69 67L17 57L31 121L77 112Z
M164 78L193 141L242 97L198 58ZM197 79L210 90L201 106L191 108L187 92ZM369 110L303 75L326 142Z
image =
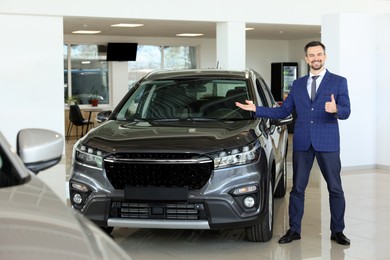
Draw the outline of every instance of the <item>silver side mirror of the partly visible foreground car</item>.
M63 150L64 138L57 132L30 128L18 133L17 153L24 165L35 174L56 165Z

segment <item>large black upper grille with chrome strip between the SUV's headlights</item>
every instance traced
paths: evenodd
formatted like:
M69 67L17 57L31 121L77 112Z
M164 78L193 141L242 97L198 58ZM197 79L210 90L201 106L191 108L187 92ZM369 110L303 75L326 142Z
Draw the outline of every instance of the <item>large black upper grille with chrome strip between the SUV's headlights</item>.
M211 159L194 154L116 154L105 158L104 165L115 189L126 186L200 189L213 169Z

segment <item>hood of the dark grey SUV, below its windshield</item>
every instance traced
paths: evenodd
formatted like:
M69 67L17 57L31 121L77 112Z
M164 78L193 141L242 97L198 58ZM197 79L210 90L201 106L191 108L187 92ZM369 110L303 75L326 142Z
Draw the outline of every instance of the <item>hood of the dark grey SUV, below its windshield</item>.
M108 121L83 143L107 152L186 151L207 153L242 146L260 135L259 120Z

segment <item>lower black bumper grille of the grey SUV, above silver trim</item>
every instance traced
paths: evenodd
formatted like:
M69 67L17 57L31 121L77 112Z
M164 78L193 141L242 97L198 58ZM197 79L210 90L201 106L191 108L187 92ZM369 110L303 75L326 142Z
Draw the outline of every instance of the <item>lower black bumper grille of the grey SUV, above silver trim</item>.
M111 203L111 218L130 219L207 219L202 203Z

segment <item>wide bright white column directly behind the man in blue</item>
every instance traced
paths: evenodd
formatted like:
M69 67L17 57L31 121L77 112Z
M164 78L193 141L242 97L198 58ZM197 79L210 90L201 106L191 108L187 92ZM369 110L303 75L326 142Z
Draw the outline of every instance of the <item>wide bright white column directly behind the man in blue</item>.
M374 18L361 14L332 14L322 19L322 42L328 54L326 67L347 78L351 99L351 116L345 121L339 120L343 167L376 164L375 133L383 121L377 125L376 100L381 93L376 92L378 67Z

